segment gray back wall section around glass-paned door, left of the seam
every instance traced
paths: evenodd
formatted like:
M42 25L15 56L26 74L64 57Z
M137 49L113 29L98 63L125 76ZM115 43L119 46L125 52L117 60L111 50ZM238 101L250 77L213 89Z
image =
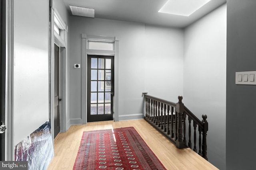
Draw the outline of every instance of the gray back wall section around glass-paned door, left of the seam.
M144 91L144 24L124 21L70 17L70 122L80 124L82 69L82 33L116 36L118 56L118 115L142 114ZM140 116L141 117L141 116Z

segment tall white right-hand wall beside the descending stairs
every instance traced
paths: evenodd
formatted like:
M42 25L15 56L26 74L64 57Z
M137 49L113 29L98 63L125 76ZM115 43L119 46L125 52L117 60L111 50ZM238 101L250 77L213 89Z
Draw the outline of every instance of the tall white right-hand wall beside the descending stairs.
M184 100L208 116L208 158L226 169L226 4L184 32Z

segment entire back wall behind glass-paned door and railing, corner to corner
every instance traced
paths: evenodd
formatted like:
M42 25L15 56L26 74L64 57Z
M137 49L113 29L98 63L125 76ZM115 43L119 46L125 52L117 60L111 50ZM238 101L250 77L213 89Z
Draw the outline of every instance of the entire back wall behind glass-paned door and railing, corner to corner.
M125 21L70 17L70 121L81 123L81 69L74 69L75 63L82 63L81 34L116 36L119 39L118 54L118 115L119 120L142 118L142 92L160 95L170 100L173 95L183 94L183 33L180 29L164 29L142 23ZM167 33L167 34L165 34ZM168 43L166 43L168 42ZM177 45L178 44L178 45ZM153 46L153 47L152 47ZM162 47L161 47L162 46ZM152 52L152 53L151 53ZM158 53L158 54L157 54ZM174 60L179 64L175 66ZM168 62L170 64L168 65ZM151 67L153 65L153 67ZM173 65L173 67L172 67ZM82 65L81 65L82 67ZM161 68L159 75L152 69ZM174 69L177 68L177 69ZM160 73L160 72L159 72ZM179 73L181 73L179 75ZM172 75L172 79L168 75ZM153 81L156 78L160 88ZM172 94L165 89L176 87L174 80L180 80L180 87ZM166 81L166 82L164 82ZM152 84L153 83L153 84ZM174 85L175 84L175 85ZM167 94L167 95L166 95ZM170 96L168 96L170 95ZM176 101L176 100L175 100Z

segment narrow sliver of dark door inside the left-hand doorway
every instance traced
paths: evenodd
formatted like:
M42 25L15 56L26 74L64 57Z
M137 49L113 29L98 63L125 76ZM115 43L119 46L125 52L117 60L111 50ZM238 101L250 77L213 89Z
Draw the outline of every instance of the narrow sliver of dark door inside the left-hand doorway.
M60 47L54 44L54 138L60 132Z

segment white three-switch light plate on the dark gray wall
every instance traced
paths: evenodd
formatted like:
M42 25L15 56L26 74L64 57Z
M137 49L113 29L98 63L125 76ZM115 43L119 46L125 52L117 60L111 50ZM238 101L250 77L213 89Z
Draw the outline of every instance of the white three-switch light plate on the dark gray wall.
M236 72L236 84L256 85L256 71Z

